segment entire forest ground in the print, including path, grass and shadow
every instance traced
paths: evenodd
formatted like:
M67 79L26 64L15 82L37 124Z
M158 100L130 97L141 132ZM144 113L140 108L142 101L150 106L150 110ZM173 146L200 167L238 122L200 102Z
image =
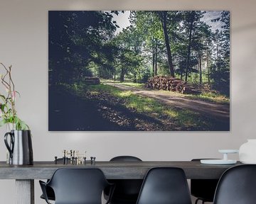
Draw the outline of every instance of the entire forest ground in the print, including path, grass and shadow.
M50 131L227 131L229 103L123 84L49 86Z

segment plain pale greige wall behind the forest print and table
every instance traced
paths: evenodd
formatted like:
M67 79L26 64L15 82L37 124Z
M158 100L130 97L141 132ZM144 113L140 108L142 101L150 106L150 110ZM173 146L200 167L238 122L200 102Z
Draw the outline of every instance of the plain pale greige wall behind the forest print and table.
M109 160L133 154L143 160L221 157L256 138L255 0L1 0L0 62L13 65L18 114L33 132L34 160L53 160L62 149L87 150ZM229 10L231 12L230 132L48 132L48 10ZM0 129L0 160L6 158ZM233 156L238 159L238 156ZM36 186L36 203L40 191ZM14 181L0 181L1 203L14 202Z

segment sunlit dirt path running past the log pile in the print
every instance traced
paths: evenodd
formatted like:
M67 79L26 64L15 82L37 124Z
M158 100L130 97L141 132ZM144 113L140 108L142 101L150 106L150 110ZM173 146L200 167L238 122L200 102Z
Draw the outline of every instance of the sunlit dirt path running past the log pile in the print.
M171 96L171 94L164 94L157 90L146 90L126 86L124 84L105 83L110 86L117 87L123 91L132 91L133 94L139 96L146 96L154 98L161 103L171 105L176 108L188 108L191 111L202 113L209 118L215 118L215 120L227 123L230 118L230 106L225 103L213 103L210 101L201 101L196 99L187 98L185 96Z

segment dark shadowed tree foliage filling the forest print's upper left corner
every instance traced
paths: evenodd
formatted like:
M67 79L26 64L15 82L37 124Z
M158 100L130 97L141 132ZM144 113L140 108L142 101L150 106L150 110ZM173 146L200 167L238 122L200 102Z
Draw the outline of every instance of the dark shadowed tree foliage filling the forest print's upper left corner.
M117 25L105 11L49 11L49 83L73 83L105 66ZM112 59L110 59L112 60Z

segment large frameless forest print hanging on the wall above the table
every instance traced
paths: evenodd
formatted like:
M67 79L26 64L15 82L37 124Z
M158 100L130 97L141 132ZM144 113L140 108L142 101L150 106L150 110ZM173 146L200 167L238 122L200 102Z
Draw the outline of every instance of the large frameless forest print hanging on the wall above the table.
M48 11L49 131L230 131L229 11Z

